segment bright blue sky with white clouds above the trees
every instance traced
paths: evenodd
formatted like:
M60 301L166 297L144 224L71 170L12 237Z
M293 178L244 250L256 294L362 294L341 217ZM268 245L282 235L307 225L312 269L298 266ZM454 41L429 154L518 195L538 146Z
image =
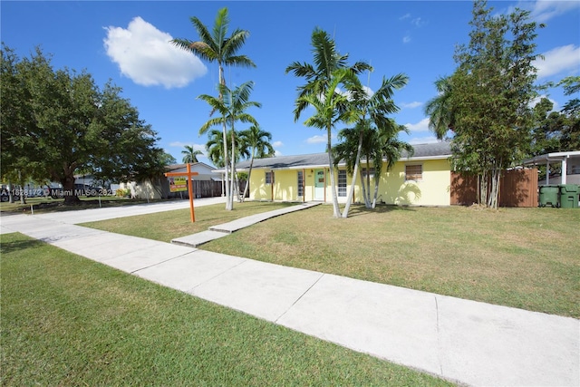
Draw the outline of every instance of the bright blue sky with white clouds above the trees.
M545 23L538 30L536 63L538 82L559 81L580 74L580 2L489 2L496 13L515 6L530 10ZM53 66L86 69L102 86L111 79L123 96L140 111L160 135L160 146L179 162L184 145L205 152L206 135L199 127L208 120L200 94L215 94L218 69L179 50L174 37L198 40L189 21L197 16L211 27L219 8L227 6L230 29L249 31L247 54L255 69L227 68L228 85L254 81L251 109L263 130L272 133L279 155L324 151L325 132L303 122L312 111L294 121L296 87L301 79L285 74L288 64L312 63L310 46L314 27L334 36L338 50L351 62L371 63L369 86L377 88L383 76L409 76L408 85L394 95L401 111L395 120L407 125L411 135L402 140L423 143L435 140L423 113L425 102L436 95L433 82L453 72L456 44L469 42L470 1L374 2L27 2L2 1L2 41L27 56L34 46L53 55ZM365 82L367 79L365 77ZM565 104L561 90L549 91L556 109ZM245 129L239 125L238 129ZM204 157L201 161L208 162Z

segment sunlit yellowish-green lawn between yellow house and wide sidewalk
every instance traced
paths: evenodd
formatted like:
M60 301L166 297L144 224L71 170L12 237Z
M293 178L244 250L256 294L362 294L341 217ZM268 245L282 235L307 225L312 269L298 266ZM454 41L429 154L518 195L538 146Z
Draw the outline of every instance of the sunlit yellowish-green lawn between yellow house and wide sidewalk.
M188 210L87 226L169 241L225 223L230 218L222 217L241 214L244 206L265 211L277 204L249 202L229 212L223 205L199 208L195 227L185 226ZM372 211L354 206L350 218L334 219L332 208L323 205L269 219L202 248L578 318L579 225L575 208L382 206Z

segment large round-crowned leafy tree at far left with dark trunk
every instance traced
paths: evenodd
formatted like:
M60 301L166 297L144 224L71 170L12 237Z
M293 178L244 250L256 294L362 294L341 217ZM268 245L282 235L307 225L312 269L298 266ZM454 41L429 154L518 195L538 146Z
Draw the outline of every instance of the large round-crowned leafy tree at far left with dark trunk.
M3 173L25 165L31 176L59 181L65 204L74 204L77 170L97 179L139 180L160 169L156 132L120 88L108 83L101 91L89 73L55 71L40 49L12 60L21 107L3 111Z

